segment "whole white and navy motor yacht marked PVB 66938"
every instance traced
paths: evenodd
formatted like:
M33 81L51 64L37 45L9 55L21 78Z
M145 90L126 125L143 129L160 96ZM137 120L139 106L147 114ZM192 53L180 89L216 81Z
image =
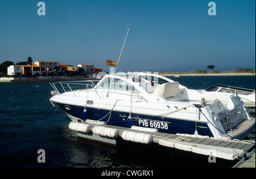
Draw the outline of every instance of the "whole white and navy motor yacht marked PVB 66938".
M49 100L72 121L230 139L244 138L255 129L255 117L236 93L226 104L217 96L208 101L200 91L151 73L107 74L77 90L82 83L51 83Z

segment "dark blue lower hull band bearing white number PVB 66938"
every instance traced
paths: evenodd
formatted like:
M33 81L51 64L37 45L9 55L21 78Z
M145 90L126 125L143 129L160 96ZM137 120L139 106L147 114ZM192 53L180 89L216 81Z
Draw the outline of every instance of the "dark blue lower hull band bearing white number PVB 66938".
M60 106L64 112L75 116L77 118L82 119L82 112L84 111L84 107L68 105L70 109L65 108L64 104L57 104ZM100 120L106 114L109 113L109 110L104 109L96 109L96 108L88 108L86 107L88 112L88 119L90 120ZM195 134L196 130L196 122L186 121L186 120L177 120L172 118L162 118L156 116L148 116L143 114L131 114L133 117L132 120L129 119L127 121L127 117L129 113L127 112L118 112L113 111L111 113L111 117L109 119L109 115L103 118L101 121L108 121L108 125L120 126L120 127L130 127L130 126L141 126L141 127L149 127L156 128L161 133L168 134ZM197 131L199 135L208 135L209 137L213 137L212 132L210 131L207 123L197 122Z

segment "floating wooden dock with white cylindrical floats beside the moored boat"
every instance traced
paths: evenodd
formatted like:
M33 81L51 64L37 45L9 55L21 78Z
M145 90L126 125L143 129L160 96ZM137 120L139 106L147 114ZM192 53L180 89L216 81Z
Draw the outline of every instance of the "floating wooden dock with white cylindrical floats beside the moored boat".
M249 154L252 151L255 152L255 142L253 141L249 142L244 140L216 139L204 136L196 137L195 135L159 133L158 130L145 127L133 126L129 129L126 127L105 125L104 123L71 122L69 124L69 129L76 130L78 137L97 140L104 143L116 144L117 138L144 144L154 142L161 146L194 152L201 155L219 157L226 160L239 159L241 161L246 161L249 159Z

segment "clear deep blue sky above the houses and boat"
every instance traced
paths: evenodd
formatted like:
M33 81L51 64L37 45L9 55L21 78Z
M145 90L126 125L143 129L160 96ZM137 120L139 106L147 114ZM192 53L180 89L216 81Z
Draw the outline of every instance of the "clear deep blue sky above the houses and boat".
M255 70L255 0L0 1L0 63L59 61L109 71Z

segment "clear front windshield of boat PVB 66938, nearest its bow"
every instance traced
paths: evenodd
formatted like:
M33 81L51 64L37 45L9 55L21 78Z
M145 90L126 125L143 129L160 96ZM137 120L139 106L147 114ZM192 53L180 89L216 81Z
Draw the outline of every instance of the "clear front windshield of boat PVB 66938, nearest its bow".
M111 86L110 86L111 83ZM97 90L116 90L116 91L129 91L129 92L135 92L140 93L137 88L135 88L132 84L129 82L119 79L119 78L110 78L106 77L100 84L96 87Z

